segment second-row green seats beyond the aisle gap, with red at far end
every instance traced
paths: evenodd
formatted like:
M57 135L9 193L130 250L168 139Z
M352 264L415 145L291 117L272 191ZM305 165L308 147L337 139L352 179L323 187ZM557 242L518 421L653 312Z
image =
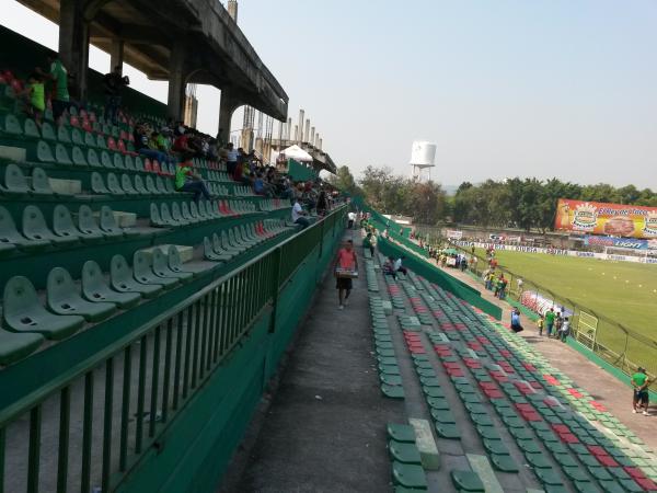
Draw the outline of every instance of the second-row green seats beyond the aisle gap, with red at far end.
M198 204L183 202L150 205L150 223L157 228L176 228L226 217L257 214L255 204L240 200L200 200Z

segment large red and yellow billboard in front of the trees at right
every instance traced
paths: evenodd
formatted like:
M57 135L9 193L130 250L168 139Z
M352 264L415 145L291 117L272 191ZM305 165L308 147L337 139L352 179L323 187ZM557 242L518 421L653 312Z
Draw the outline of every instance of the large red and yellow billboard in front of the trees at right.
M560 198L554 229L589 234L657 239L657 207Z

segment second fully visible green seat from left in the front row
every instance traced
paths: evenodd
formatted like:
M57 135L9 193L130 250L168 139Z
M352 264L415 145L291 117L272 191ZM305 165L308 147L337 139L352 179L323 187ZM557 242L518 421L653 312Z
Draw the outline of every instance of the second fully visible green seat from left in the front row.
M81 316L89 322L100 322L116 311L114 303L84 300L79 295L71 275L61 267L55 267L48 274L46 299L50 311Z

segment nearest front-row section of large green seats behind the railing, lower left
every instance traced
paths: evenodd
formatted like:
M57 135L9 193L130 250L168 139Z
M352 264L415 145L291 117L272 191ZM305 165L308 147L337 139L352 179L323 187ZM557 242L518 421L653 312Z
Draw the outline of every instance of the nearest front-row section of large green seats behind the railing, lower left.
M136 306L141 298L152 298L178 286L205 271L186 266L175 246L166 253L138 251L132 268L122 255L112 259L110 280L93 261L82 267L81 287L61 267L53 268L47 278L45 307L32 283L23 276L9 279L2 298L0 364L7 365L32 353L44 339L59 341L74 334L85 323L97 323ZM24 337L31 334L30 337ZM9 347L7 346L7 344Z

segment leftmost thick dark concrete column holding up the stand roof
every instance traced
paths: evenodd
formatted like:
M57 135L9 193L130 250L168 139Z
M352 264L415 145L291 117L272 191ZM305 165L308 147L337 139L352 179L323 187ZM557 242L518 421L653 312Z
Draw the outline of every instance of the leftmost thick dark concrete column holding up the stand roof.
M89 22L84 19L83 0L61 0L59 3L59 57L74 80L71 96L85 100Z

